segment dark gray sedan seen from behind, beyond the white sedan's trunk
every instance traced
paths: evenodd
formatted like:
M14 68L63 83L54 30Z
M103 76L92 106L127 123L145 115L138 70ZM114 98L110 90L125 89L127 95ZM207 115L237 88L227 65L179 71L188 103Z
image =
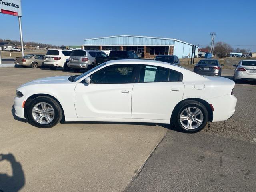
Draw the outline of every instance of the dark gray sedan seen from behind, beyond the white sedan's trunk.
M221 67L218 60L202 59L194 67L194 72L200 75L221 76Z

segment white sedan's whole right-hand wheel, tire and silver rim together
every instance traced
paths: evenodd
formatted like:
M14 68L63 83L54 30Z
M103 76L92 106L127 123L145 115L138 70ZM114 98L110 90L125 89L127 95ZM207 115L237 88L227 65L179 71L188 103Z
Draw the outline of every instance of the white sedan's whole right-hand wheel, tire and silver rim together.
M206 126L208 111L202 103L186 100L177 109L175 124L182 132L194 133Z

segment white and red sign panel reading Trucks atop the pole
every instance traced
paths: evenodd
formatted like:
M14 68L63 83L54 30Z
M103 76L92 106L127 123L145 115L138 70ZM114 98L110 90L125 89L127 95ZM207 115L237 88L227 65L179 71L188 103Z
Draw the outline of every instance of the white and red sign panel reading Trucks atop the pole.
M0 0L0 12L14 16L22 16L21 0Z

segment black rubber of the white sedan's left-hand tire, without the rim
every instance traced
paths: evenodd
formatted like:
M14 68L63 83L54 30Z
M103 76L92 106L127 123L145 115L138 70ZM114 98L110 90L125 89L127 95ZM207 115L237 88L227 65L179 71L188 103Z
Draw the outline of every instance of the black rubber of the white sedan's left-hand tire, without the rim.
M53 117L52 121L48 124L41 124L39 122L36 122L36 120L33 117L32 109L36 104L38 104L40 102L45 102L45 103L49 104L50 106L52 106L52 108L54 110L54 117ZM56 124L58 124L63 116L60 104L58 104L58 102L56 100L54 100L53 98L48 97L48 96L38 96L38 97L34 98L34 100L32 100L31 103L29 104L26 112L27 112L28 122L31 125L39 127L39 128L51 128L51 127L55 126ZM38 114L38 116L39 115L40 114Z

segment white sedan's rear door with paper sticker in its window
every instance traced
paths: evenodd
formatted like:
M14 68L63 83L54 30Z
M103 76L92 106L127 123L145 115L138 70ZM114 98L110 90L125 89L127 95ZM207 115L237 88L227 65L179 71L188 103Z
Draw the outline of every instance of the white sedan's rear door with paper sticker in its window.
M183 75L168 68L142 65L132 90L132 118L170 120L182 100Z

